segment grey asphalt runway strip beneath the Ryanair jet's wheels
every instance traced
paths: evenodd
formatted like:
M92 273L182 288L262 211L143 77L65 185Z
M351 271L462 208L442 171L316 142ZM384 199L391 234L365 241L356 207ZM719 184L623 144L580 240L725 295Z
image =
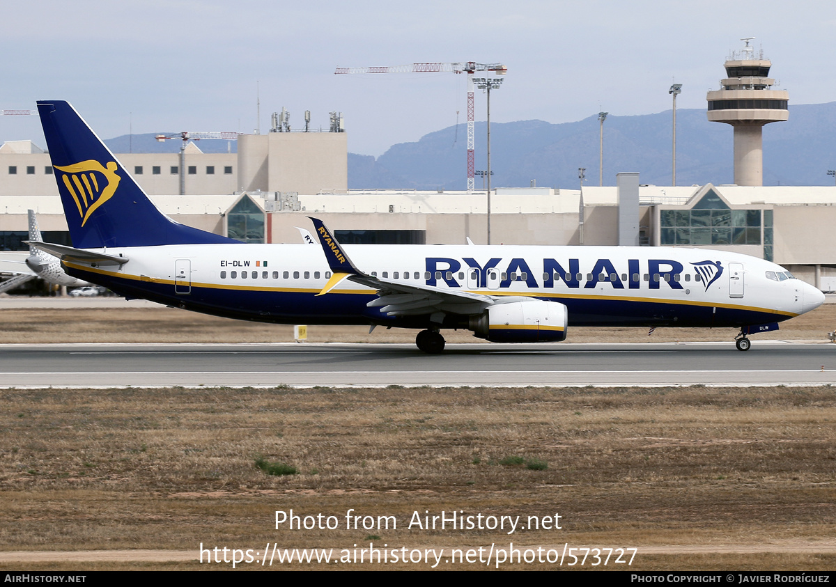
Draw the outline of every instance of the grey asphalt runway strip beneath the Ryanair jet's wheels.
M0 387L836 385L836 345L0 345Z

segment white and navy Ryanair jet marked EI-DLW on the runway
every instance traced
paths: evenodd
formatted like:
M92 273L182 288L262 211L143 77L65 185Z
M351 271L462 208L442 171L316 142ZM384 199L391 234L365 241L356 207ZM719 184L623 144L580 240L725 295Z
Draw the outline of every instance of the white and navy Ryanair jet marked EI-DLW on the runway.
M809 312L818 289L775 263L649 247L352 245L311 218L320 247L245 244L162 215L72 106L38 102L74 248L33 243L67 273L126 298L278 324L441 329L497 342L566 339L568 326L739 328Z

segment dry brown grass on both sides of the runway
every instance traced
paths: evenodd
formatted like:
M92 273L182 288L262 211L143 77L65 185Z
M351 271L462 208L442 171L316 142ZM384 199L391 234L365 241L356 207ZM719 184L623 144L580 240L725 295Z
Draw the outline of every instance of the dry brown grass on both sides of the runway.
M6 342L290 336L289 327L174 309L2 310L0 316ZM826 339L834 318L833 306L823 306L782 325L776 338ZM365 333L312 328L310 339L412 338ZM654 342L670 335L730 340L734 333L660 329L648 337L646 331L574 329L570 340L629 334ZM257 467L259 458L297 472L269 475ZM370 542L389 549L637 547L630 569L833 569L836 396L830 387L0 390L0 496L0 569L208 566L154 556L2 562L4 553L18 550L196 553L201 543L260 550L279 544L334 548L338 556ZM275 529L274 512L291 508L333 515L339 528ZM397 527L347 529L344 516L352 508L394 516ZM425 511L519 515L521 523L559 513L562 529L408 528L413 513Z

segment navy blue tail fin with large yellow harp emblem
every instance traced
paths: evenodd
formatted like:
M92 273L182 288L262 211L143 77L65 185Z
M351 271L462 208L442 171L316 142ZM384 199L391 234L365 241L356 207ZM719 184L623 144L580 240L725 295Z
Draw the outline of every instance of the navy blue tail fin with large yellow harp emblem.
M67 102L39 100L38 113L75 248L238 242L157 210Z

